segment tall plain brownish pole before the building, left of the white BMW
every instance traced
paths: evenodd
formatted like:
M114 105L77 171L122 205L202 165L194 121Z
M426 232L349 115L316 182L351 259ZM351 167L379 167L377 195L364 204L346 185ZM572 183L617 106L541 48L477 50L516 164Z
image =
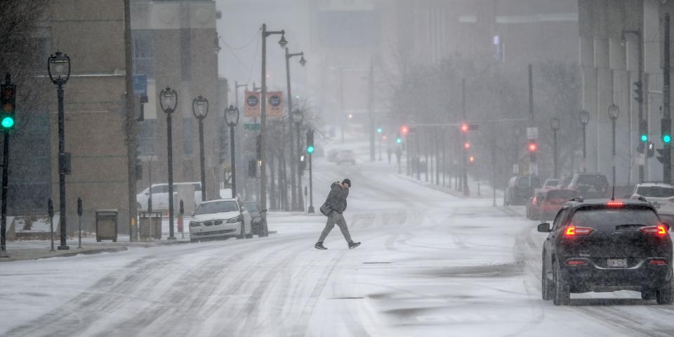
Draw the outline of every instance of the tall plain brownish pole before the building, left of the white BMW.
M137 241L136 232L136 114L133 110L133 58L131 58L131 0L124 0L124 59L126 63L126 171L128 189L128 240ZM205 188L202 186L201 188Z

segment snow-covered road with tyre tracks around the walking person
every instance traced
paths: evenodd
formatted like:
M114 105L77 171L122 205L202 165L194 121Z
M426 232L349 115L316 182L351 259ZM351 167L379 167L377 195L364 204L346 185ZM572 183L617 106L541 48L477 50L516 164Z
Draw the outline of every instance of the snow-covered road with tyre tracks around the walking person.
M339 230L272 213L267 238L0 265L1 336L674 336L635 292L541 300L545 234L521 208L458 199L383 164L315 161L315 206L352 181Z

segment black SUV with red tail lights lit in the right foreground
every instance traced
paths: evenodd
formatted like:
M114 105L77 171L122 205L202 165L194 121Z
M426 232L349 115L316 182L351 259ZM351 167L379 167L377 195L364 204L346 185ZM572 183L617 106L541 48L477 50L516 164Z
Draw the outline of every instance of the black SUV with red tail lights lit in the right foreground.
M641 291L672 304L672 239L651 204L575 198L562 206L543 244L543 300L567 305L570 293Z

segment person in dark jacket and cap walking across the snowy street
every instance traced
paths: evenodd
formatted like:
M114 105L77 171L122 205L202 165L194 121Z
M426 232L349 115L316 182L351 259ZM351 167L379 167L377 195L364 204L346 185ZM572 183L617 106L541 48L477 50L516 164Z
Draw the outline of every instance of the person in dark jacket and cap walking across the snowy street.
M321 213L324 216L328 217L325 228L319 237L318 242L314 246L316 249L327 249L323 246L325 238L330 234L330 231L335 227L339 226L339 229L344 235L349 249L354 249L357 246L360 246L360 242L353 242L351 239L351 234L349 233L349 228L346 226L346 220L344 220L344 211L346 211L346 197L349 196L349 189L351 188L351 180L344 179L342 182L334 182L330 186L330 193L328 198L325 200L323 206L321 206Z

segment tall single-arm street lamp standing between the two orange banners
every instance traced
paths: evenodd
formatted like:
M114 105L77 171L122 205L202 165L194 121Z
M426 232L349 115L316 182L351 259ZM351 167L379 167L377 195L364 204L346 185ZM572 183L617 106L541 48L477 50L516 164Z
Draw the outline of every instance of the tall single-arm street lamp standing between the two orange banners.
M286 32L267 31L267 24L262 25L262 91L260 92L260 203L267 209L267 154L265 150L265 132L267 130L267 37L281 34L279 45L285 48Z

